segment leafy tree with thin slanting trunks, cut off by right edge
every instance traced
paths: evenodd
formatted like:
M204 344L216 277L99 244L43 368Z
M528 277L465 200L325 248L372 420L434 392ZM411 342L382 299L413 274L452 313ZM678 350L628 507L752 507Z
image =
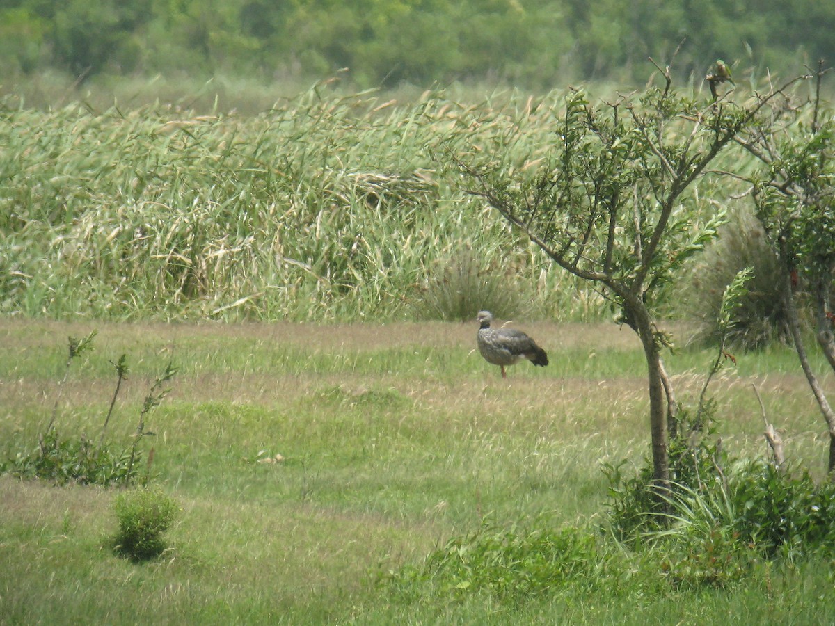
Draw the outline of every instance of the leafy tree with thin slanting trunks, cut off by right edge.
M768 240L777 255L787 323L817 405L829 432L828 472L835 480L835 411L809 364L802 338L797 290L811 295L817 345L835 371L835 121L821 110L823 62L815 95L806 104L777 102L761 124L737 140L762 164L751 191ZM810 77L811 78L811 77ZM826 121L822 121L825 119Z

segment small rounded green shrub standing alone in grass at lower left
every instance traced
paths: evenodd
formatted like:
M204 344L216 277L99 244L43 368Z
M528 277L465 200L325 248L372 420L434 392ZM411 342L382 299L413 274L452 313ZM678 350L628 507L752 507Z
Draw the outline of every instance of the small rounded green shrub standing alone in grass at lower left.
M177 504L157 488L120 493L114 501L119 518L116 552L134 560L159 556L165 549L162 534L174 522Z

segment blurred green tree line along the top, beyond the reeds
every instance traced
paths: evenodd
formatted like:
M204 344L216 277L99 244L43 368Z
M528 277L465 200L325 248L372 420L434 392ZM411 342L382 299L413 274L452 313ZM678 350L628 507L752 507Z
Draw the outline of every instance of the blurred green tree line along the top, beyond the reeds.
M350 68L362 87L499 79L643 82L646 58L702 75L716 58L792 73L835 51L835 4L797 0L2 0L7 74ZM755 69L755 71L758 71Z

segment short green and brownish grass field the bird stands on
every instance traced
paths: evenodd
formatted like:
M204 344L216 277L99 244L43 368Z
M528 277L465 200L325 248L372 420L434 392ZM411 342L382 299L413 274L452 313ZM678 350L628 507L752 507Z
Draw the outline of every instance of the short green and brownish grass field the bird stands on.
M154 448L154 482L181 508L169 549L133 563L110 547L118 490L0 478L0 623L835 620L826 558L757 561L736 584L681 588L665 582L657 555L623 553L617 578L554 580L513 602L378 583L485 520L599 528L602 464L642 463L645 376L631 331L524 328L551 364L521 364L503 381L474 351L474 323L0 322L7 457L37 446L68 335L99 331L63 386L63 435L98 437L115 384L109 361L127 353L109 426L110 441L126 442L154 376L175 362L144 446ZM683 344L686 329L676 331ZM697 393L711 356L695 347L668 356L682 399ZM774 346L737 357L715 387L726 448L767 454L756 384L787 455L822 475L826 432L796 356Z

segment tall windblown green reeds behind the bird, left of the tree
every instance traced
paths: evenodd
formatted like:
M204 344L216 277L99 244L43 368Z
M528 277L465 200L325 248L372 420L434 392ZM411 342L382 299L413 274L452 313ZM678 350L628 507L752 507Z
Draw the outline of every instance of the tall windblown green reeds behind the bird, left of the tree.
M558 93L464 105L427 92L398 106L322 89L254 116L7 100L0 313L445 319L477 300L599 316L595 294L468 195L450 159L529 169Z

